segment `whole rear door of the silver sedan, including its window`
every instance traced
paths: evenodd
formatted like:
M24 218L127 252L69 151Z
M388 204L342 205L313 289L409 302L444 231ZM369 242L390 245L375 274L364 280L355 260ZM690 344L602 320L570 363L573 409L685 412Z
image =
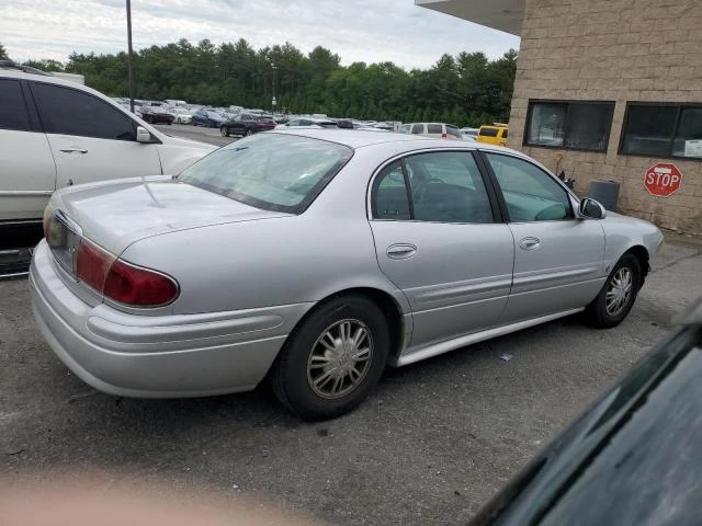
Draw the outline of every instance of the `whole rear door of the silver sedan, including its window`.
M373 182L371 210L380 267L412 310L410 347L498 321L514 243L509 227L494 222L469 152L419 153L390 163Z

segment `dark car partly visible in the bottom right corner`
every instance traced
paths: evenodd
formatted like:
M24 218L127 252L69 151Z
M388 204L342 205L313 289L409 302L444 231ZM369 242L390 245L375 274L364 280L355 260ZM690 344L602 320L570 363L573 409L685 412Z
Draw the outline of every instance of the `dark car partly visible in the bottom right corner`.
M693 525L702 517L702 304L473 519Z

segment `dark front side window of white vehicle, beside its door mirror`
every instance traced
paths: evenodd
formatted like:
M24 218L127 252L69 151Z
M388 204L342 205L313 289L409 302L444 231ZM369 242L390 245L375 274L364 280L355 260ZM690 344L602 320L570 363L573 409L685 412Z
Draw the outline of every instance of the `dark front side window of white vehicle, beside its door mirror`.
M90 93L43 82L32 91L47 134L136 140L135 122Z

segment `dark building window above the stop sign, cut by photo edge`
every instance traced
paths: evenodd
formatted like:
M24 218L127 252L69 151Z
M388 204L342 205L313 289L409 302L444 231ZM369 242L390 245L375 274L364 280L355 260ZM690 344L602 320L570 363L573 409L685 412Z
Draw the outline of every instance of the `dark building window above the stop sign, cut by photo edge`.
M630 103L620 152L702 159L702 104Z

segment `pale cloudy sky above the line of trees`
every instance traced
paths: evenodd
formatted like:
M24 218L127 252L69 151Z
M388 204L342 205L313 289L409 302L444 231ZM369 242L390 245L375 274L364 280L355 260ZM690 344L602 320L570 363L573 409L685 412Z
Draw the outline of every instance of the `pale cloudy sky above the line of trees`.
M126 50L125 0L0 2L0 43L15 61L67 61L72 52ZM341 64L393 61L428 68L444 53L497 58L519 38L415 5L414 0L132 0L134 48L188 38L246 38L257 49L321 45Z

